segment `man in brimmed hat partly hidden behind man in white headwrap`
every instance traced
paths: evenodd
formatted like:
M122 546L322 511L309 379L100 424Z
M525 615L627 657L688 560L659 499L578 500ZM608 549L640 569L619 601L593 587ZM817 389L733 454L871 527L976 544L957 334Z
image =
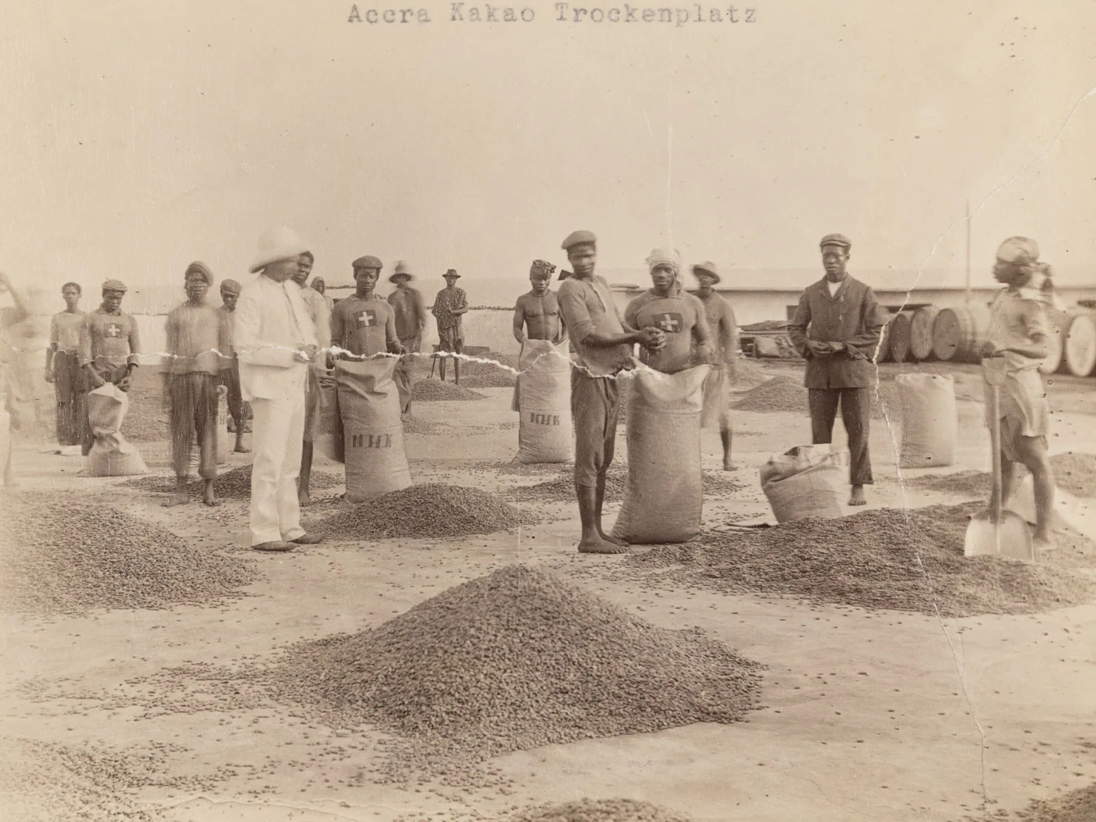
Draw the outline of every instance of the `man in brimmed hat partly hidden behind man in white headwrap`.
M716 264L697 263L693 266L693 276L699 284L693 294L704 304L712 341L713 367L704 384L704 421L706 424L711 421L718 423L719 438L723 444L723 470L733 471L734 465L731 463L733 432L727 391L734 380L734 364L739 351L738 323L734 321L731 304L716 294L715 285L720 279Z

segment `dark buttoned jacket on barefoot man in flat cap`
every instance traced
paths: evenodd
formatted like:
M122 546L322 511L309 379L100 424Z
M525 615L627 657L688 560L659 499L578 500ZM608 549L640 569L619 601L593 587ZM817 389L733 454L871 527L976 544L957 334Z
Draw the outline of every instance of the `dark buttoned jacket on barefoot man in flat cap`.
M807 286L799 298L796 316L788 324L788 335L807 361L808 388L869 388L871 357L879 345L879 334L887 322L887 309L872 290L858 279L845 277L831 297L823 277ZM843 342L845 351L815 357L807 340Z

